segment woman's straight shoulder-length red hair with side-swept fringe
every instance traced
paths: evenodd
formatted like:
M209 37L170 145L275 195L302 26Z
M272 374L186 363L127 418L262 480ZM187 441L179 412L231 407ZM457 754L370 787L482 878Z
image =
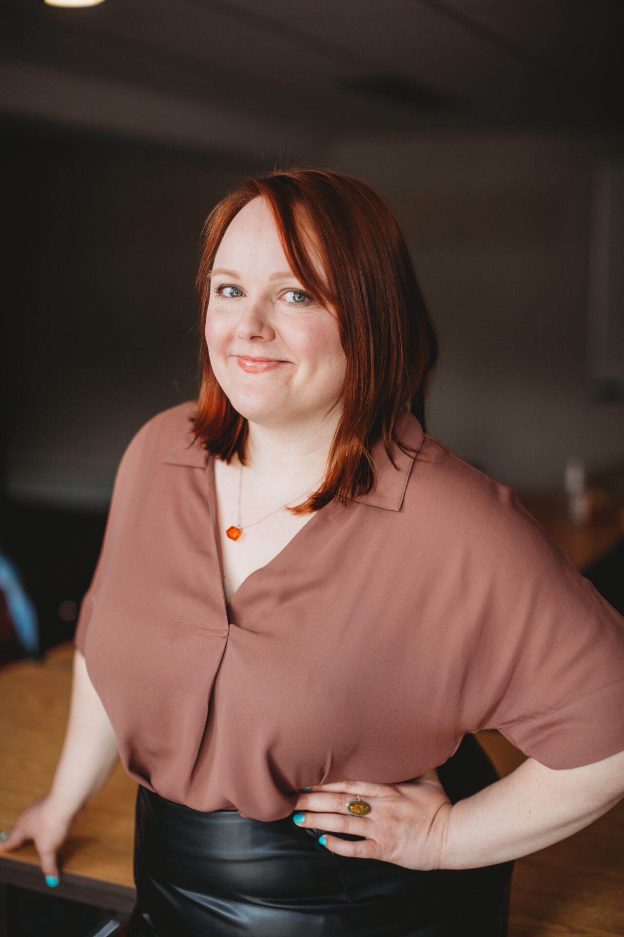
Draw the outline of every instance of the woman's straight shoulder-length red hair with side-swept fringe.
M346 357L341 420L326 476L310 498L286 510L310 513L332 498L346 505L348 498L368 493L374 484L370 449L377 439L384 440L392 460L391 445L400 445L397 424L406 409L427 431L425 397L438 360L436 331L399 223L372 186L342 172L301 165L244 178L214 206L201 232L195 284L201 385L191 432L208 452L227 462L236 452L246 464L248 423L214 377L205 324L217 248L234 216L256 197L268 202L283 252L305 290L316 303L335 308ZM327 284L306 250L297 223L302 215L315 235Z

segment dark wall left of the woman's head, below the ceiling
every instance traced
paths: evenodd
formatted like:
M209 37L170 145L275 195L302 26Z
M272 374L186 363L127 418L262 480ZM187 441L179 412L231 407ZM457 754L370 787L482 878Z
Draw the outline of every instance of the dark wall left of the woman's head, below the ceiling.
M35 602L45 650L73 633L123 449L154 413L196 394L204 219L241 175L268 167L1 129L0 552Z

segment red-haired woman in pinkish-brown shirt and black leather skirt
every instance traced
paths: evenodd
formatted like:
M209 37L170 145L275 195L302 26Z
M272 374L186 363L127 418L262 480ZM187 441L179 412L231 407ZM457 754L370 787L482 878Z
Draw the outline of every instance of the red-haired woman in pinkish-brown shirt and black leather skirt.
M245 180L197 288L198 399L123 454L64 751L5 848L56 874L119 751L134 937L506 934L515 858L624 795L624 619L426 432L436 337L370 186ZM528 755L504 779L486 728Z

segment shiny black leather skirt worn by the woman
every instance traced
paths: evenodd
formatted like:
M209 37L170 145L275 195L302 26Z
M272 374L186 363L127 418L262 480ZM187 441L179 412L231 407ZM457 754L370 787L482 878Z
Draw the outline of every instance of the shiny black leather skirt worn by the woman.
M498 781L474 736L438 768L452 803ZM328 830L195 811L138 785L127 937L505 937L514 861L410 870L335 855ZM343 839L358 840L347 834Z

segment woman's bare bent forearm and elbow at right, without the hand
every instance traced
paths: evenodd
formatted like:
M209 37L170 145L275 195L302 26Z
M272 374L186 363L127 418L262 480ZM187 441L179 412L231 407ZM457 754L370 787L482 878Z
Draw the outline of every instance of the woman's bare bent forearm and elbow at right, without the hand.
M565 840L624 797L624 751L592 765L553 769L528 758L449 811L442 869L507 862Z

